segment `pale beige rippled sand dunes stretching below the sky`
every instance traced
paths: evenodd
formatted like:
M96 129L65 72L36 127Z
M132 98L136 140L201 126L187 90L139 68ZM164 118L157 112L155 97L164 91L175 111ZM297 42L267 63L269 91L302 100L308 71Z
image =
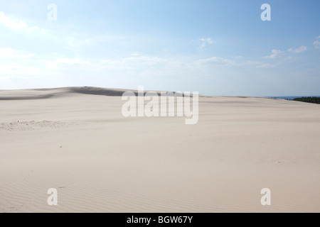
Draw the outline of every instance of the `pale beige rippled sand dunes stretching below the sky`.
M0 91L0 212L320 212L320 105L202 96L186 125L122 92Z

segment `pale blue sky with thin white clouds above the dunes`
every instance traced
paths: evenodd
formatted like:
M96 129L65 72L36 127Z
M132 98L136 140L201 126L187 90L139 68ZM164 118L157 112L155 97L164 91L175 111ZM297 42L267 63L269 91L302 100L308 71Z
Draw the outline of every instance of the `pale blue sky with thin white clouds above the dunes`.
M0 89L319 95L319 9L319 0L1 1Z

